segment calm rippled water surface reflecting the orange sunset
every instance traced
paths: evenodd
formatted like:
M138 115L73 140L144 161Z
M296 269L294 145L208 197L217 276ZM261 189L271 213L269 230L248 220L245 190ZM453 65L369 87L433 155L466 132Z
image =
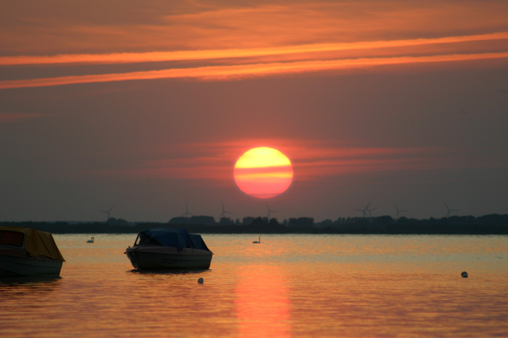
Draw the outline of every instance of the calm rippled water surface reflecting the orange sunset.
M0 282L0 336L508 336L508 236L203 235L210 270L165 274L136 235L54 237L61 278Z

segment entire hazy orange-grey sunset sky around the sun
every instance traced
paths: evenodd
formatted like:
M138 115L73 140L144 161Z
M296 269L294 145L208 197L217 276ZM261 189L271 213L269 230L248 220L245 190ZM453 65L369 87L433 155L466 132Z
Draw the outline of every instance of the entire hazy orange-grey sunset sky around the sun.
M0 220L508 212L508 2L0 0Z

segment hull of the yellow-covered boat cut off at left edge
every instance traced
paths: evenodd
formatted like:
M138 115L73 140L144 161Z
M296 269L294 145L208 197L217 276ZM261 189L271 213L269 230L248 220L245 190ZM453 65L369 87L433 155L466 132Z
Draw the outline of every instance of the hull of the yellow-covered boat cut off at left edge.
M59 276L63 261L0 254L0 277Z

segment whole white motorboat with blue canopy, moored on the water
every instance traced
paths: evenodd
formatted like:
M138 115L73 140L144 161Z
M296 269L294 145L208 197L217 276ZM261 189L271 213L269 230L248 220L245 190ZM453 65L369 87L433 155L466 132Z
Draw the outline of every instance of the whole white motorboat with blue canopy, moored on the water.
M137 270L208 269L213 255L201 235L173 228L140 232L124 253Z

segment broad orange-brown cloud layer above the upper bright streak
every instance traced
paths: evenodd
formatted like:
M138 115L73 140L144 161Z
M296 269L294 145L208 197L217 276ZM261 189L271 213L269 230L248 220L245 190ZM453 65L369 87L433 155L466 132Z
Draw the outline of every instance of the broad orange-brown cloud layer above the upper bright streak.
M0 40L4 55L266 48L506 31L506 15L502 1L129 2L99 12L12 2Z

